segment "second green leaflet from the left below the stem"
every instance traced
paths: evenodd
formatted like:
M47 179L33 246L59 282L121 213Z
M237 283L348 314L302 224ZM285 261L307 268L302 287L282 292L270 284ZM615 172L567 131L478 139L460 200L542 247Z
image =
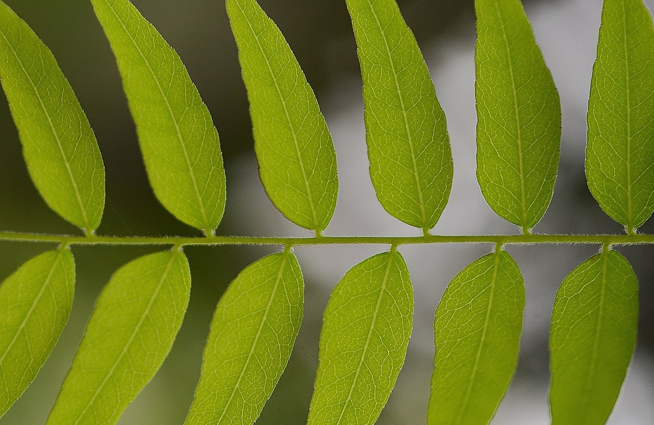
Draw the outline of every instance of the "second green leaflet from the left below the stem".
M179 251L118 269L97 299L47 424L115 424L170 351L190 284Z

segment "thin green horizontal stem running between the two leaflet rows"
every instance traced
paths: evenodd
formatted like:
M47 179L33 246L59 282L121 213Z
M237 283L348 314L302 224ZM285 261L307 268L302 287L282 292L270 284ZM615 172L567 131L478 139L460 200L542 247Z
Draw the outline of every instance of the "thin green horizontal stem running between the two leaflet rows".
M71 236L41 233L0 232L0 241L66 243L68 245L419 245L432 243L500 245L530 244L654 244L654 235L423 235L423 236L320 236L320 237L140 237L140 236Z

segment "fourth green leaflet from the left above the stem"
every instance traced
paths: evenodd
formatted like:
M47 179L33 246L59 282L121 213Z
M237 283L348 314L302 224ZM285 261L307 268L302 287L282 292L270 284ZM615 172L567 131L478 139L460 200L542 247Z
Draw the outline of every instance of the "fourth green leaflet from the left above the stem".
M370 177L386 211L434 227L452 187L445 114L394 0L347 0L364 82Z

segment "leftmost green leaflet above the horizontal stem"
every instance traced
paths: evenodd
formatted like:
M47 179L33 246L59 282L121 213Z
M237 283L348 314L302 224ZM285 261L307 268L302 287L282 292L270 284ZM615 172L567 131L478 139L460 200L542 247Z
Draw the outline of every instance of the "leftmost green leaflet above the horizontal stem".
M93 233L105 207L95 135L52 52L1 1L0 78L39 193L65 220Z

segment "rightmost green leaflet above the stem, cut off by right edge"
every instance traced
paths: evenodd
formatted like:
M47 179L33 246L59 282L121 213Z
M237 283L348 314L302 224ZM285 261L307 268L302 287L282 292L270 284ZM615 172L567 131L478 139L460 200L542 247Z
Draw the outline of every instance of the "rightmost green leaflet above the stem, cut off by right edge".
M586 177L632 233L654 211L654 27L642 0L606 0L588 102Z

